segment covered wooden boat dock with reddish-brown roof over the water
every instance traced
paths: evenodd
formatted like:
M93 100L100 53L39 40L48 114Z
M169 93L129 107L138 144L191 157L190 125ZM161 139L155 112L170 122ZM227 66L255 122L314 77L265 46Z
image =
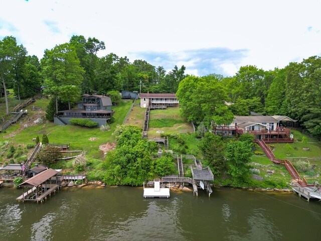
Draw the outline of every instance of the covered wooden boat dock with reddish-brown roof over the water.
M57 177L58 171L47 169L36 176L26 180L19 187L22 187L23 194L17 198L18 201L42 202L51 196L61 187L61 182Z

